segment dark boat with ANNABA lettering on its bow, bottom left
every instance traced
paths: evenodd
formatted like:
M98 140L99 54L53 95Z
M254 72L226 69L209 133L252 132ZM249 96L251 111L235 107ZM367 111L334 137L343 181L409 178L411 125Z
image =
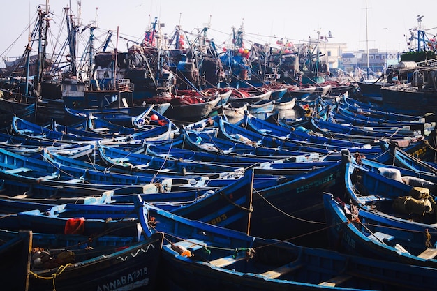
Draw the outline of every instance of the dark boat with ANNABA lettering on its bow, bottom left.
M0 230L0 238L3 240L24 233ZM138 237L110 235L86 237L78 234L27 233L30 233L28 247L15 252L10 250L8 256L15 263L2 264L5 268L0 276L4 283L9 283L8 288L18 284L27 285L20 290L29 291L52 288L110 290L111 286L126 290L156 288L162 233L140 241ZM17 270L17 259L20 257L28 259L25 273ZM6 260L6 257L2 258ZM24 280L26 277L27 280Z

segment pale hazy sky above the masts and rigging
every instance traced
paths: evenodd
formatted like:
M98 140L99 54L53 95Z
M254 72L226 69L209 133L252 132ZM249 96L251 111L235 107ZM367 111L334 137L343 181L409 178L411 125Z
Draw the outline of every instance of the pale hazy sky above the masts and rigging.
M114 31L112 47L116 45L119 29L119 50L126 48L126 40L140 41L144 32L154 22L165 24L164 33L171 36L180 24L184 31L197 32L209 23L207 36L219 47L230 40L232 27L244 24L249 42L276 43L278 38L292 43L328 36L332 43L347 43L348 51L406 50L409 29L419 24L431 38L437 34L437 1L424 0L52 0L50 11L53 20L51 31L57 31L63 20L63 8L70 6L78 15L77 3L81 2L82 25L97 20L94 31L97 41L105 39L108 30ZM45 0L13 0L2 3L0 17L0 57L20 56L27 44L29 22L36 18L38 4ZM366 16L367 15L367 16ZM422 22L417 21L418 16ZM32 24L31 29L33 29ZM59 47L65 36L54 33L51 44ZM86 42L89 34L83 33ZM3 66L1 62L0 66Z

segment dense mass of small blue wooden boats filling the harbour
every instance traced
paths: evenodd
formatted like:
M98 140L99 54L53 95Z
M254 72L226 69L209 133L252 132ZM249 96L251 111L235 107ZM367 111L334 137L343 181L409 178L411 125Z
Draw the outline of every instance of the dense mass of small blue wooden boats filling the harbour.
M191 123L155 105L66 107L66 124L14 116L0 147L3 284L435 288L434 124L347 94L290 101Z

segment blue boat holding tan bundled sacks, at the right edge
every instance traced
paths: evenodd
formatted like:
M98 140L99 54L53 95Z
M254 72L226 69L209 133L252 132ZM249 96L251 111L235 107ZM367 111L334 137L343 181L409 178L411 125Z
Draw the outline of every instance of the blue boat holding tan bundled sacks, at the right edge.
M391 167L380 167L376 172L352 159L346 163L345 185L346 196L341 198L357 207L420 223L437 221L432 181L401 176Z

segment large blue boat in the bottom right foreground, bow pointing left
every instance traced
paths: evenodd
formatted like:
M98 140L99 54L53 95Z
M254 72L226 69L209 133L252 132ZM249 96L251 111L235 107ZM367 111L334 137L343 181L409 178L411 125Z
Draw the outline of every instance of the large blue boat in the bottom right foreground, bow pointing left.
M158 274L168 290L416 290L437 283L436 269L252 237L170 214L140 197L135 205L146 237L164 232Z

